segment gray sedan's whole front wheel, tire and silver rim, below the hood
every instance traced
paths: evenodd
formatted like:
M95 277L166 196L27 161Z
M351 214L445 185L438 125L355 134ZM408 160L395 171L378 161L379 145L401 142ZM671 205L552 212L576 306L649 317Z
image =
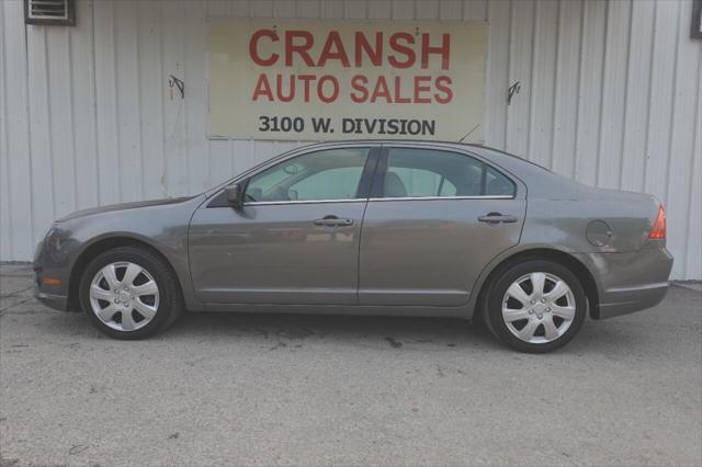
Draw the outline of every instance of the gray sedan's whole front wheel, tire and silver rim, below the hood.
M182 310L178 281L145 248L121 247L93 259L80 281L83 311L101 332L143 339L170 326Z

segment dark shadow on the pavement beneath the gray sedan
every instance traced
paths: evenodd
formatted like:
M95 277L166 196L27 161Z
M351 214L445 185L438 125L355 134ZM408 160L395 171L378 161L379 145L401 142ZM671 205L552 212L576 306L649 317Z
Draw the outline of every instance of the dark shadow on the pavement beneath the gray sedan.
M36 315L33 326L46 335L71 340L81 337L110 339L97 331L83 314L54 311L37 304L8 315L8 319L12 319L11 315ZM171 328L147 341L224 342L231 339L272 349L314 342L404 351L460 348L512 353L482 322L431 317L186 312ZM637 353L636 350L645 344L650 345L652 342L632 332L627 326L614 322L602 326L586 320L579 335L567 349L573 354L607 353L611 356L625 349L626 353Z

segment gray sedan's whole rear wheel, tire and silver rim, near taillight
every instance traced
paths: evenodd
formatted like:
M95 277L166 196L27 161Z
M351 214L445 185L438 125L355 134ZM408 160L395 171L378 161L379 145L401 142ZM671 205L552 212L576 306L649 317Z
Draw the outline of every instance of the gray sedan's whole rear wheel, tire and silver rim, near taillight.
M587 297L567 267L529 260L508 267L494 283L487 322L502 342L521 352L544 353L575 337L587 312Z

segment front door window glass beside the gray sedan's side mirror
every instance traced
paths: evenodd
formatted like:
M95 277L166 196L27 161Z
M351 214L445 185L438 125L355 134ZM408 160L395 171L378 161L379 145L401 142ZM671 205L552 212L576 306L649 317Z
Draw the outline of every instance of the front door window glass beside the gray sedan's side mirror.
M353 200L370 148L308 152L251 178L247 202Z

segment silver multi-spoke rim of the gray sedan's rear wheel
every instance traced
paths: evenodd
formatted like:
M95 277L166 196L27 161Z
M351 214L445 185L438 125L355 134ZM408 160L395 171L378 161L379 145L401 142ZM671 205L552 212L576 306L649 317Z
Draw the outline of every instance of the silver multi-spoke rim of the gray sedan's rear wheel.
M575 295L555 274L534 272L512 283L502 299L502 319L518 339L544 344L561 338L575 319Z

